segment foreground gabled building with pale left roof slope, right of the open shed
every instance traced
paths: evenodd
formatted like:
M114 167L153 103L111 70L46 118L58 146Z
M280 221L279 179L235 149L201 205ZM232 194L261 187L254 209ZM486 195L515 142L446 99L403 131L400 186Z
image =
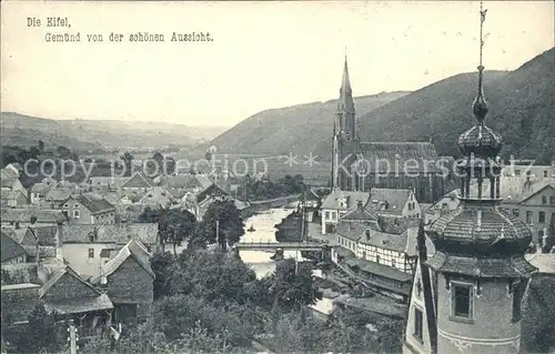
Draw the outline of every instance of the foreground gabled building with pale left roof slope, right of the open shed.
M115 322L128 323L151 315L155 275L150 256L142 242L133 237L102 266L102 275L91 280L112 300Z

